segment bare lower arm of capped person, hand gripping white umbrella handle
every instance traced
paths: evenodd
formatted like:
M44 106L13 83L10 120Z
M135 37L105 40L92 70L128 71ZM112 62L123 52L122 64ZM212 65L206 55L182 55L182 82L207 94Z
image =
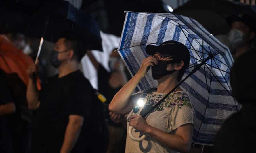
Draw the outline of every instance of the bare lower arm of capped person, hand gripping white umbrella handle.
M150 134L152 138L159 141L161 144L178 152L189 152L193 136L193 124L188 123L180 126L175 130L174 134L165 133L146 123L140 115L130 117L130 126L136 127L137 130Z

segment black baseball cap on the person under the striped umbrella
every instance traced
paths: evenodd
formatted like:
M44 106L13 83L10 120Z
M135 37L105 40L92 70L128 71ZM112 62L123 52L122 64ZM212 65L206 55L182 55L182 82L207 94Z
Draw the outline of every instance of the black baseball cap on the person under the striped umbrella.
M175 62L183 61L184 66L183 68L188 68L189 66L189 60L190 60L190 54L188 48L177 41L169 40L166 42L163 42L161 45L147 45L146 46L146 53L149 55L154 55L156 52L164 55L170 55L172 56L173 60Z

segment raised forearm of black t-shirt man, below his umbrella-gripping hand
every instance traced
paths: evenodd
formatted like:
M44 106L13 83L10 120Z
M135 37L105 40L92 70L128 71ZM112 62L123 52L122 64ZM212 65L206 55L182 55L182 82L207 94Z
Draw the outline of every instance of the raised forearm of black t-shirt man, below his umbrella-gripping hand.
M27 87L27 101L28 101L28 108L29 109L36 109L38 106L38 91L36 89L35 83L33 83L32 79L28 80L28 87Z

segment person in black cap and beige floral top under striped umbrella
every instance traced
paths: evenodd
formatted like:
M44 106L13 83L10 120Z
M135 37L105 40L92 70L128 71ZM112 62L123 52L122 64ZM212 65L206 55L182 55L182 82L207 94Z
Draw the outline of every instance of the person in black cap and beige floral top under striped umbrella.
M157 105L160 99L175 88L189 66L189 51L182 43L167 41L160 46L146 46L146 52L152 56L142 61L139 71L114 96L109 105L109 110L113 113L130 112L128 124L140 131L133 131L134 136L140 136L141 132L146 134L142 142L133 141L127 136L125 152L189 152L193 133L193 112L188 95L179 87L147 114L146 119L141 115L132 115L136 112L138 104L135 99L138 97L146 94L145 109ZM150 66L153 79L158 81L157 89L131 96Z

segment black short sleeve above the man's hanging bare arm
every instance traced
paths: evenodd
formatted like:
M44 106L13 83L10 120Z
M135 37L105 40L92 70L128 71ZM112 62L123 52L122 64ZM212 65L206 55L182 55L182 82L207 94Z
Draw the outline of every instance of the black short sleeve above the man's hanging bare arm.
M77 85L69 89L68 95L68 114L80 115L83 117L89 116L89 110L93 103L93 91L88 87Z

